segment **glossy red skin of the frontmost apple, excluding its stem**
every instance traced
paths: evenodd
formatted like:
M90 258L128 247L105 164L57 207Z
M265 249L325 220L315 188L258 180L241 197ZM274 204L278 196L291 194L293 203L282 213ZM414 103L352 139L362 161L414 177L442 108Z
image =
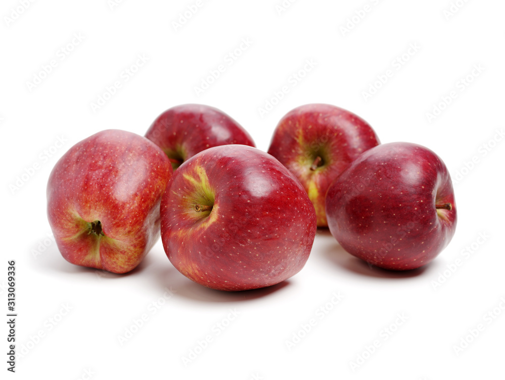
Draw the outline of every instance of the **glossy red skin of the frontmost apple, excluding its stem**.
M212 210L195 211L196 204ZM192 281L238 291L278 284L305 265L316 213L271 155L244 145L202 151L174 172L162 198L168 258Z

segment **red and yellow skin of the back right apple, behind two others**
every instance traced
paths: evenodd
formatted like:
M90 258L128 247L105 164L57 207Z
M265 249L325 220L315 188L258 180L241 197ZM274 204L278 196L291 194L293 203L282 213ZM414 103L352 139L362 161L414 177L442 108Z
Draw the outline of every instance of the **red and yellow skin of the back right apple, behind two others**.
M327 227L325 195L331 182L379 138L359 116L330 104L301 105L277 125L268 153L304 186L316 209L318 227ZM311 169L317 156L320 166Z

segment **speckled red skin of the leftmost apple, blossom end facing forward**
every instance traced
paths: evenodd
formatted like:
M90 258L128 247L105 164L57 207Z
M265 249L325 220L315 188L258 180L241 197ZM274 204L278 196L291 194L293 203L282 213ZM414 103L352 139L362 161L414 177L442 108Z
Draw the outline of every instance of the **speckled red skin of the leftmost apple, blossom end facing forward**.
M172 166L153 142L121 130L72 146L47 183L47 218L71 263L126 273L160 237L160 203ZM100 222L102 234L90 224Z

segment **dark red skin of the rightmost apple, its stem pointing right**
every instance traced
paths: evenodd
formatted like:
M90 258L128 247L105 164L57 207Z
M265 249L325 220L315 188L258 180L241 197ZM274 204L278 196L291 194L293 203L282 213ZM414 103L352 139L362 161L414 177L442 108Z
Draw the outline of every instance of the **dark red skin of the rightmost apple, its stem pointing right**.
M444 204L451 209L436 208ZM328 189L326 215L347 252L394 270L429 263L457 224L445 164L430 149L407 142L379 145L352 162Z

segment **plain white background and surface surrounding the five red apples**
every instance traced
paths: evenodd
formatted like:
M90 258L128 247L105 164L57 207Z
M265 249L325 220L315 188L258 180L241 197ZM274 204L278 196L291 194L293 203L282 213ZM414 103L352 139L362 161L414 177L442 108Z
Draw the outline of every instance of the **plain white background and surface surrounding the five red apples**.
M504 127L503 2L458 0L447 13L449 0L298 0L284 2L289 6L281 12L282 0L201 0L185 22L181 15L196 1L25 3L6 0L0 7L0 305L6 312L7 261L16 260L16 349L24 353L9 378L505 376L499 240L505 143L497 134ZM23 11L18 17L16 9ZM81 41L74 38L79 34ZM72 51L62 54L62 47ZM147 62L129 76L124 70L139 55ZM56 67L40 74L52 60ZM219 65L219 77L196 91ZM387 70L387 82L376 85ZM32 86L35 76L44 78ZM93 108L115 81L121 87ZM365 95L371 86L380 88ZM262 114L268 101L275 105ZM188 102L228 113L262 150L285 113L312 102L360 115L382 142L431 148L458 182L455 237L426 267L391 273L369 268L319 231L299 274L273 288L239 293L187 280L161 241L128 275L66 262L47 237L45 186L58 158L100 130L143 135L161 112ZM429 117L439 103L443 111ZM65 143L55 145L58 138ZM461 265L454 270L457 259ZM438 281L444 282L435 286ZM164 297L166 289L173 296ZM336 305L334 294L343 297ZM233 320L230 310L238 313ZM135 328L143 314L147 320ZM456 353L455 345L478 324L483 331ZM5 373L8 331L2 325ZM121 344L127 330L134 334ZM295 335L302 338L288 347ZM211 343L198 349L207 336ZM367 354L375 340L380 346ZM199 354L184 365L195 349ZM353 371L351 362L361 365Z

